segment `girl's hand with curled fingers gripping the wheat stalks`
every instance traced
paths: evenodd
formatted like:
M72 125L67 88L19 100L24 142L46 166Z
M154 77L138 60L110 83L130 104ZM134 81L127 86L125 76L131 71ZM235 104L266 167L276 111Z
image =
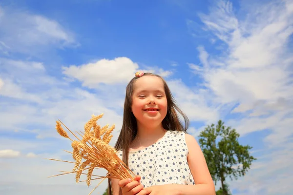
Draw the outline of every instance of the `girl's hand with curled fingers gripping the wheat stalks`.
M137 176L134 181L131 179L122 179L118 182L119 187L122 190L123 195L136 195L144 186L140 183L141 177Z

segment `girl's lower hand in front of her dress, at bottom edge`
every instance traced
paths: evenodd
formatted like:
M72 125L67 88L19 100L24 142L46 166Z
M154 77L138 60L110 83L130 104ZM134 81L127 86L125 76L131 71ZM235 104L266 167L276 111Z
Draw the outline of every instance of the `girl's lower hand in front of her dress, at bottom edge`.
M143 189L137 195L178 195L174 184L150 186Z

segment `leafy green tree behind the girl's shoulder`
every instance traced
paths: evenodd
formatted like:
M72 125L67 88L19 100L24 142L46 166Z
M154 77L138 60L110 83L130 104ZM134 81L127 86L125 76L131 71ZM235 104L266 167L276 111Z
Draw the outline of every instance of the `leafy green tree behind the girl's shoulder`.
M231 180L238 176L245 176L250 169L251 162L256 160L250 155L249 145L243 146L238 142L240 135L235 129L224 126L218 121L217 125L211 124L199 135L199 144L206 158L209 172L215 182L221 182L221 189L217 195L229 195L229 187L225 183L229 176Z

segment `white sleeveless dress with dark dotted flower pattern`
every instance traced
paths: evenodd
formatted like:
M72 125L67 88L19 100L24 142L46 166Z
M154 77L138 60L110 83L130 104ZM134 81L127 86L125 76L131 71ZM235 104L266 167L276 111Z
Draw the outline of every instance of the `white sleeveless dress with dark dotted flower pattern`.
M117 152L122 159L122 151ZM188 161L185 132L167 131L162 139L138 151L129 151L128 167L141 176L143 186L164 184L194 185Z

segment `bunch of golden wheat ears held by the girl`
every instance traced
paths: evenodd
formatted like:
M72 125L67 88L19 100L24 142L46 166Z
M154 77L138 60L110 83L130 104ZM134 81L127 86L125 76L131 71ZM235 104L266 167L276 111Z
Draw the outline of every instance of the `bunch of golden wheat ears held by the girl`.
M57 160L68 163L74 163L75 166L71 172L64 172L63 174L55 175L61 176L65 174L76 174L76 182L81 182L81 175L87 175L86 183L87 186L90 185L91 180L103 179L105 178L134 178L134 173L126 166L126 164L116 155L116 150L109 145L109 142L113 135L112 131L115 128L115 125L109 127L105 125L100 127L97 124L97 120L103 117L103 114L99 116L92 116L91 119L84 125L84 132L78 133L82 138L77 137L72 131L70 131L61 120L56 121L56 130L62 137L66 137L72 141L71 146L73 152L65 151L72 154L75 162L66 161L66 160ZM67 132L62 128L61 124L75 137L77 140L71 139ZM104 168L108 171L106 176L96 176L93 175L93 170L97 168ZM87 170L87 174L83 173ZM97 178L92 178L95 176ZM50 176L52 177L52 176ZM89 195L102 183L102 181L89 193Z

